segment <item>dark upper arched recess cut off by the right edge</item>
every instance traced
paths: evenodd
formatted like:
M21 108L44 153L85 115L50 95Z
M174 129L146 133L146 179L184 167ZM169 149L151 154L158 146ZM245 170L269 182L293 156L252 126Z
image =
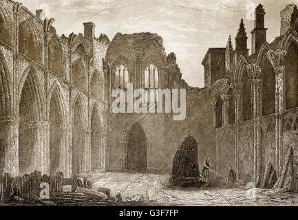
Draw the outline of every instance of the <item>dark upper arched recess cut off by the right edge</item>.
M286 109L298 107L298 47L292 42L284 58L286 66Z

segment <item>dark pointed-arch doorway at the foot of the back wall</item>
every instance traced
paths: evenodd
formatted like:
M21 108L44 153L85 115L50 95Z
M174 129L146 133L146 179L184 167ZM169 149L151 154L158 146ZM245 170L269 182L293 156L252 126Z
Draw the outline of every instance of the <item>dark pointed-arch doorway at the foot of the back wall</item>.
M134 124L127 137L127 169L145 171L147 169L147 139L140 124Z

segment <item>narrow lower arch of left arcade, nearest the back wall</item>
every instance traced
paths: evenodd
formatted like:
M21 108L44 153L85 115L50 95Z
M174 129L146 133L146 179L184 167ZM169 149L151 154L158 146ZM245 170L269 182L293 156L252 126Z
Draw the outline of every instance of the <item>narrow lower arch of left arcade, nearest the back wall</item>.
M96 104L91 114L91 170L103 169L103 118Z

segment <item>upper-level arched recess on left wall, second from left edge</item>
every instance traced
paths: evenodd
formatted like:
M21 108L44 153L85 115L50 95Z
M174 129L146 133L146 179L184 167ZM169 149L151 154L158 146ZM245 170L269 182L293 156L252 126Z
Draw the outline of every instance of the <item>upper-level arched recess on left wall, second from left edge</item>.
M19 25L19 52L36 63L42 63L42 42L34 21L28 19Z

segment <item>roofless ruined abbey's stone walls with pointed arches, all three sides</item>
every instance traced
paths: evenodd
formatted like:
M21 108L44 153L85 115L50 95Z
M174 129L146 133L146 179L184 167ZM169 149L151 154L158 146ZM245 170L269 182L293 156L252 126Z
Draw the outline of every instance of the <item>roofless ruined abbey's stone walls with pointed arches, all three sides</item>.
M266 6L265 6L266 7ZM189 87L158 34L58 36L54 19L21 3L0 1L0 175L39 170L73 174L126 170L171 173L185 135L198 140L198 161L215 175L231 166L246 182L273 164L281 175L294 150L298 181L298 10L281 11L281 29L266 41L258 5L252 48L243 19L222 48L202 61L204 88ZM99 27L100 28L100 27ZM249 55L251 54L251 55ZM198 74L198 73L193 73ZM187 118L173 113L113 113L114 88L187 89Z

